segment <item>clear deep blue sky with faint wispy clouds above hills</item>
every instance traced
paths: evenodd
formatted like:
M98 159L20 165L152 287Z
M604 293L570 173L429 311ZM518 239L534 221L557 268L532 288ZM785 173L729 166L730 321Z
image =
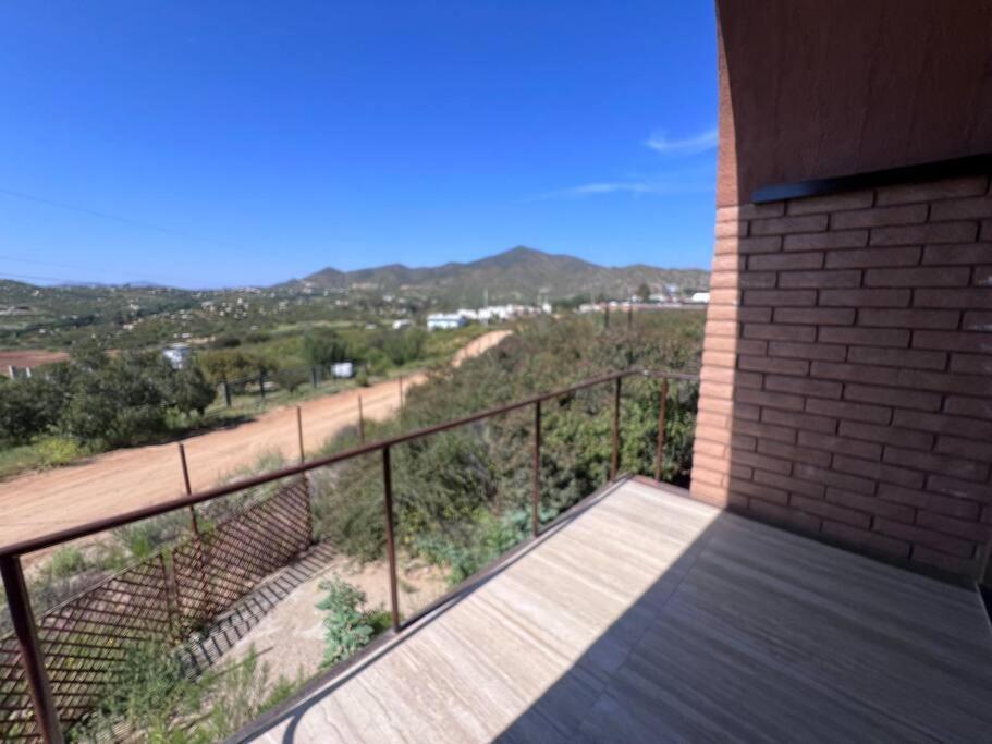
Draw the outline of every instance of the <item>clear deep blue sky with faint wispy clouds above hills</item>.
M714 36L696 0L5 2L0 276L706 267Z

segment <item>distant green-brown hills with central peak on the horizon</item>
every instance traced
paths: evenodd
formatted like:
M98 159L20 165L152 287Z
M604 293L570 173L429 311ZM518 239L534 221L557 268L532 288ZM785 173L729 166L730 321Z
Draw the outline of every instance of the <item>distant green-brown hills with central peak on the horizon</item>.
M450 263L430 268L391 264L358 271L327 268L304 279L281 285L330 290L367 290L394 294L430 296L446 302L480 304L489 301L535 302L576 294L624 297L647 282L652 292L674 284L683 290L705 290L709 272L701 269L660 269L641 264L607 267L527 247L482 258L469 264Z

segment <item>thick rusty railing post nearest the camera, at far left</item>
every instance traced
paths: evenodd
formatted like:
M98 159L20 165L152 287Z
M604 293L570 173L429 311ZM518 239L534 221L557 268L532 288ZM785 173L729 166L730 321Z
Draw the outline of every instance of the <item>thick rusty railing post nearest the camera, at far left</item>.
M21 667L30 694L35 723L47 744L62 744L62 727L59 723L59 711L51 694L51 684L45 669L45 658L38 643L38 627L30 609L27 586L24 584L24 572L19 556L0 557L0 573L3 575L3 588L7 591L7 606L10 608L11 624L17 638L21 651Z

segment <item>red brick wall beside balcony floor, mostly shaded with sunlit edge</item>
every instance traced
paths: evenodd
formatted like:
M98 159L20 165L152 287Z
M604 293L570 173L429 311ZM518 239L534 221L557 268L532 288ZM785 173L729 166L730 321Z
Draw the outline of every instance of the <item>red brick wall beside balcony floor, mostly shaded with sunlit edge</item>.
M989 179L722 207L696 498L981 577L992 535Z

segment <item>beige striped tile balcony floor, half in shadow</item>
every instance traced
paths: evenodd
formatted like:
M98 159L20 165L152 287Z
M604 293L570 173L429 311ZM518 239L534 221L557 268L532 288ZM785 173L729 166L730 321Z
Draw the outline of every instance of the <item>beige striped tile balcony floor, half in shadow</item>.
M973 591L627 480L265 742L988 741Z

